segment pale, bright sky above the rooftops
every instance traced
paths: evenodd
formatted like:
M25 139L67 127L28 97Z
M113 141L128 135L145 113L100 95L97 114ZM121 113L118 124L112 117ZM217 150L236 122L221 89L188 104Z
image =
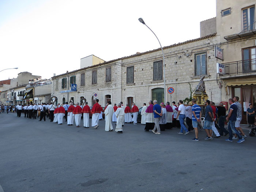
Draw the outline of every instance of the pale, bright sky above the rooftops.
M49 79L91 54L110 61L200 37L215 0L0 0L0 80Z

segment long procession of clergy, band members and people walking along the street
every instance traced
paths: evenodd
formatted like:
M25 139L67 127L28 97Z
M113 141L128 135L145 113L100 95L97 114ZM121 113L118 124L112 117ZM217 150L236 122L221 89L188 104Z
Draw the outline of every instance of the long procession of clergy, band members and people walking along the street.
M99 99L95 100L95 104L92 108L89 107L88 102L74 103L66 102L65 104L58 103L56 106L53 103L41 103L32 104L28 103L26 105L16 105L16 106L1 106L2 113L16 112L17 117L21 117L24 113L25 118L36 119L39 117L39 121L46 121L46 118L50 119L50 122L63 124L63 119L67 122L67 125L76 125L79 127L81 124L81 119L83 127L89 128L89 117L92 114L91 127L97 129L99 127L99 120L102 118L103 109L99 105ZM209 100L205 101L205 115L202 120L202 108L197 105L196 99L192 99L192 105L184 105L182 100L177 102L172 102L173 106L170 106L170 102L159 103L157 100L149 101L148 106L143 103L143 107L140 111L141 124L145 125L144 131L152 131L155 134L161 134L161 131L166 129L172 129L177 127L180 129L178 134L187 135L188 133L195 131L195 138L191 139L193 141L199 141L198 132L204 129L207 137L204 140L212 140L213 133L214 138L221 138L221 136L229 135L226 139L228 142L233 142L233 140L238 139L237 143L242 143L245 141L246 135L240 127L240 122L242 118L241 104L239 97L234 97L229 99L230 109L226 115L226 109L223 107L222 103L215 106L215 103ZM132 108L126 104L124 107L123 102L118 104L107 102L105 107L105 131L113 131L112 123L115 123L117 133L123 133L124 123L133 123L137 125L139 108L132 103ZM253 127L255 121L255 110L252 108L250 103L247 109L248 123L249 127ZM216 123L218 120L218 124ZM228 122L227 129L225 129L225 120ZM202 122L203 121L203 122ZM187 126L185 125L187 124ZM234 135L233 135L234 133Z

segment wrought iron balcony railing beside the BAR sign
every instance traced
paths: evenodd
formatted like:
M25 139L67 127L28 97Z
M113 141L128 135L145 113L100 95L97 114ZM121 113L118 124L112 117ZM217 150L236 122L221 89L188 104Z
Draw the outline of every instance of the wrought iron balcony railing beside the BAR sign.
M256 72L256 59L222 63L225 75L248 74Z

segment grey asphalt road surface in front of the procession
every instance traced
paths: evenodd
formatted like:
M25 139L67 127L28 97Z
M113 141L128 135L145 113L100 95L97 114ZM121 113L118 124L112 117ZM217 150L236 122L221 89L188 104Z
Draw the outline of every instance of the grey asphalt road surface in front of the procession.
M85 129L1 113L0 122L4 192L255 191L256 137L249 135L238 144L204 140L202 130L195 142L177 128L156 135L125 124L123 134L105 132L104 120Z

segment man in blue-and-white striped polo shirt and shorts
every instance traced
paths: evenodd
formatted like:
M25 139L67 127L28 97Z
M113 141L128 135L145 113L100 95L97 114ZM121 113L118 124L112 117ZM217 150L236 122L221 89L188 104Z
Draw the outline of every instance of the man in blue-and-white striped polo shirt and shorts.
M201 116L202 116L202 113L201 113L201 108L199 105L196 104L196 99L192 99L192 124L193 124L193 128L195 130L195 135L196 137L194 139L191 139L193 141L199 141L199 138L198 138L198 124L200 123L201 121Z

